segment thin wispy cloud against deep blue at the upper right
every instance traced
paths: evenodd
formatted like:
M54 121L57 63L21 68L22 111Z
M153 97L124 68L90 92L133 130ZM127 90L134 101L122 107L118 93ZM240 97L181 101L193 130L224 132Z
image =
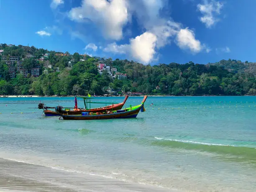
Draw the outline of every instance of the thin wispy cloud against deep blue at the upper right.
M210 28L219 21L216 16L220 15L220 10L223 8L223 3L215 0L204 0L204 3L198 4L197 8L203 15L200 17L201 22L205 23L207 28Z

